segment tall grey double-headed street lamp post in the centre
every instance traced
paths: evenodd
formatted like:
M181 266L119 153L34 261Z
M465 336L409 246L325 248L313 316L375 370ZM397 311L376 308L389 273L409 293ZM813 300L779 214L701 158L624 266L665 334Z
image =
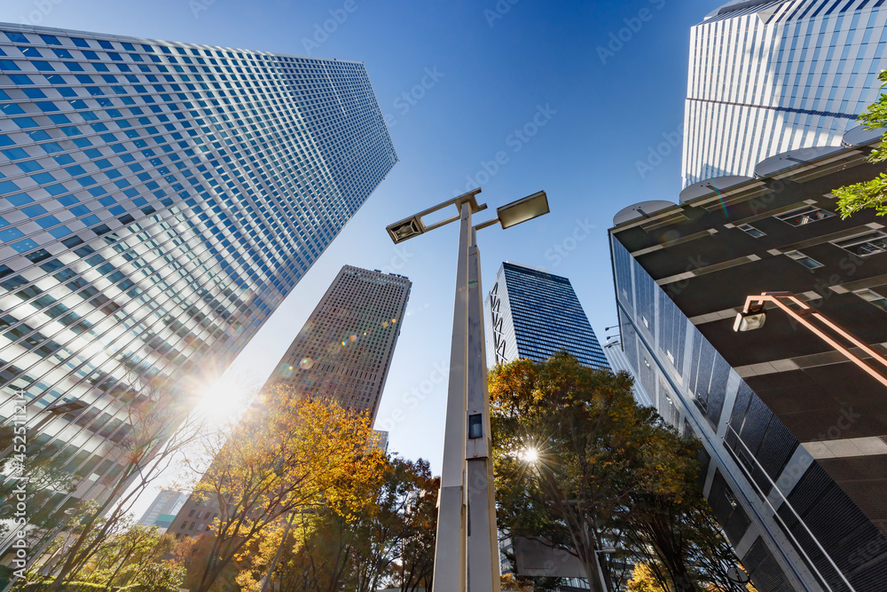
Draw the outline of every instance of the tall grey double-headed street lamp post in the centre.
M490 437L490 393L483 341L481 260L476 233L499 224L510 228L547 214L544 191L496 210L479 225L471 217L487 208L473 189L386 227L395 244L459 221L456 298L453 308L443 466L438 496L434 592L498 592L496 505ZM426 225L422 220L455 206L458 213ZM467 526L472 525L469 529Z

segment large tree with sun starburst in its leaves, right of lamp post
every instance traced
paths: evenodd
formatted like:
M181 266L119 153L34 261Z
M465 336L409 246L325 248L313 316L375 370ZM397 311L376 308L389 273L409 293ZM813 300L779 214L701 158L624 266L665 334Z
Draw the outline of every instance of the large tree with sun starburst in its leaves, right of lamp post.
M513 537L545 535L596 574L595 551L621 539L616 517L641 486L665 490L674 459L653 470L655 412L637 407L624 373L559 353L491 371L499 523ZM608 588L614 570L601 557ZM603 592L590 577L593 592Z

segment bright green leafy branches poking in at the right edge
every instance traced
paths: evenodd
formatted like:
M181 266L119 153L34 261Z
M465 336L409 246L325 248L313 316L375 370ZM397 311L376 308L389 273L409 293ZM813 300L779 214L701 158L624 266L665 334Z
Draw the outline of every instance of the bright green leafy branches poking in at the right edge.
M860 121L867 130L887 127L887 70L878 75L881 81L881 96L860 114ZM868 156L868 162L887 161L887 137L881 139ZM837 197L837 208L841 217L850 217L861 209L873 208L878 216L887 215L887 174L881 173L877 178L853 185L845 185L834 190Z

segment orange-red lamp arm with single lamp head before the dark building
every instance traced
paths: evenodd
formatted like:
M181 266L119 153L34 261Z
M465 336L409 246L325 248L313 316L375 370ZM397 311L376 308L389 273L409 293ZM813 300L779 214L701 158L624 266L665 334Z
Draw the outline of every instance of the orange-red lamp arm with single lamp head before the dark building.
M836 351L841 352L844 358L849 359L876 381L887 386L887 358L791 292L764 292L760 296L747 297L742 312L736 314L733 330L752 331L764 327L766 303L775 304L782 312L809 329L813 335L828 343ZM850 350L851 347L859 348L865 352L868 358L876 364L870 364L867 359L860 358ZM878 364L881 366L879 367Z

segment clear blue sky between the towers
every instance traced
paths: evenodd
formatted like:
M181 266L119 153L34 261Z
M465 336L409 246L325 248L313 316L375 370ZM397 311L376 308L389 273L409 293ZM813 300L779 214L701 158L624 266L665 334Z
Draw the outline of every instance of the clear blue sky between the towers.
M491 211L545 189L551 214L480 233L483 288L506 259L567 276L602 342L616 321L607 229L636 201L677 199L679 146L643 178L637 163L679 138L689 28L719 4L4 0L0 20L365 62L400 162L235 367L269 375L342 264L410 277L377 424L391 428L391 450L438 470L446 384L435 365L449 358L458 229L395 248L385 226L478 181ZM333 32L319 34L325 24ZM404 403L413 389L424 399Z

